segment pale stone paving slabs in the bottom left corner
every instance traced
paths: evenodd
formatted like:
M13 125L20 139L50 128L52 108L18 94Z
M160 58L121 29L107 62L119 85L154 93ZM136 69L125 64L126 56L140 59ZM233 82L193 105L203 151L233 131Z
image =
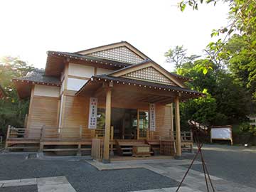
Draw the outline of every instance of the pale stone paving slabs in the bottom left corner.
M16 186L35 185L38 188L38 192L76 192L65 176L0 181L0 191L11 191Z

